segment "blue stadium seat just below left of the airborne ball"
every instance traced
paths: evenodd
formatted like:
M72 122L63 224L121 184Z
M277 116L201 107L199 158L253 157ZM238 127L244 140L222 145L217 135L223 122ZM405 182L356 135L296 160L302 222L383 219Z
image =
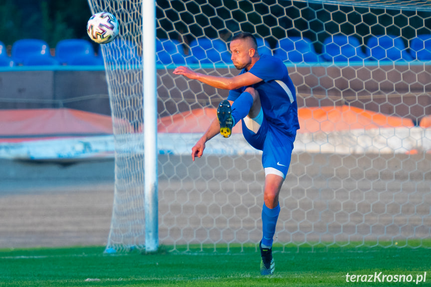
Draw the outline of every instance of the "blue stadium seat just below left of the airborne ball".
M93 46L87 40L65 39L59 41L55 46L55 58L60 64L69 64L75 58L87 55L94 56Z

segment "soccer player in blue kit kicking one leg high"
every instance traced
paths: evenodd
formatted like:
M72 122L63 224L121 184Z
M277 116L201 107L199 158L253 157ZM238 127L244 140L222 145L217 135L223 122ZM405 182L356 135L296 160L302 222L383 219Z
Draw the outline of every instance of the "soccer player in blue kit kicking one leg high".
M228 89L229 96L217 108L217 119L192 148L192 159L201 157L205 143L219 132L229 137L232 127L242 120L247 142L262 150L265 169L261 275L274 273L272 243L280 213L279 193L289 169L293 142L299 129L296 92L283 62L271 55L260 55L256 38L239 32L230 42L232 62L241 72L234 77L211 76L180 66L176 75L184 75L219 89Z

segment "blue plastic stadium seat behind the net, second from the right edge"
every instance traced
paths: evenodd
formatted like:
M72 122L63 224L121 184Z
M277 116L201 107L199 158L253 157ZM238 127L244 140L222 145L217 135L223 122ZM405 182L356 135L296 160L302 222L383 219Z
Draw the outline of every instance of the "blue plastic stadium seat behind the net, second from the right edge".
M376 35L367 41L366 53L372 61L411 61L403 39L392 35Z

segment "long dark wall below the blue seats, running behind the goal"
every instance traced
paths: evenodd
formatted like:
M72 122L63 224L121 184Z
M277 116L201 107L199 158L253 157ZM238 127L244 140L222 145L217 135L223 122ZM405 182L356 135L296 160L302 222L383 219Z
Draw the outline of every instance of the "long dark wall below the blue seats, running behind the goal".
M288 69L297 87L300 107L350 104L414 120L431 114L431 65L425 63ZM172 77L172 71L157 70L160 116L216 106L228 95L227 90L186 81L182 76ZM238 73L235 68L201 71L222 76ZM110 114L105 71L0 72L1 109L55 107Z

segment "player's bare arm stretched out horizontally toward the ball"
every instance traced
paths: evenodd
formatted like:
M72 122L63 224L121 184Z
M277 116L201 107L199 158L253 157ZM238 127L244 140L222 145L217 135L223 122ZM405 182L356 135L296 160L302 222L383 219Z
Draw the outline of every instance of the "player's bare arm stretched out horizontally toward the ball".
M195 72L188 67L179 66L174 72L175 75L183 75L189 79L198 80L212 87L225 90L234 90L240 87L250 86L261 82L262 79L250 72L246 72L234 77L211 76Z

